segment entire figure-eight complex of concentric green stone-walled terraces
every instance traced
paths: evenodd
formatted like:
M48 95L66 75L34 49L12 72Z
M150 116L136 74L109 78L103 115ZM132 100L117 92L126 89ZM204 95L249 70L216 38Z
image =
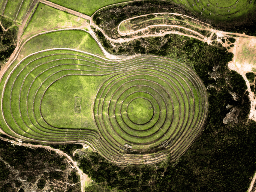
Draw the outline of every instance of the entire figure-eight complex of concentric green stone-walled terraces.
M73 80L65 85L68 78ZM79 79L90 78L97 79L95 89L86 84L66 96ZM41 143L87 143L116 164L179 158L207 115L199 77L158 56L111 61L71 50L45 51L24 58L3 82L1 128L7 134ZM61 113L63 124L56 124ZM74 116L80 121L72 122ZM83 118L87 124L80 125Z

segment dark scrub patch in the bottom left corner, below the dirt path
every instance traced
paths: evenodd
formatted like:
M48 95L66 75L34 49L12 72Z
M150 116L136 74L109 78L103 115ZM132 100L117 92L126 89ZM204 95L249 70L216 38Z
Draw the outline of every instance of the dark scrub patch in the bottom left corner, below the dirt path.
M54 151L13 146L0 140L0 158L1 192L42 190L44 187L53 191L81 191L76 171L72 171L67 161Z

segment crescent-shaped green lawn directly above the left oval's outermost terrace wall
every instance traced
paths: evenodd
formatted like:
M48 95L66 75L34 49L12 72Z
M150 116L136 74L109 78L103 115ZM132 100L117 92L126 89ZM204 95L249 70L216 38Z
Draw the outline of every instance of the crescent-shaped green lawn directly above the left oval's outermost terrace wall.
M59 47L77 49L104 57L100 47L89 33L82 30L65 30L32 38L23 47L19 59L33 52Z

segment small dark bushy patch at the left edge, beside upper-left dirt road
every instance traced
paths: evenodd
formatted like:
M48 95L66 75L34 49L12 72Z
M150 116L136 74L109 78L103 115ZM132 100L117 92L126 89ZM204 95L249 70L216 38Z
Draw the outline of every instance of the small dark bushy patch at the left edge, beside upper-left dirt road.
M18 27L13 26L13 22L0 16L1 23L5 29L0 26L0 69L13 53L17 44ZM13 26L13 27L11 27ZM8 29L7 31L5 31Z

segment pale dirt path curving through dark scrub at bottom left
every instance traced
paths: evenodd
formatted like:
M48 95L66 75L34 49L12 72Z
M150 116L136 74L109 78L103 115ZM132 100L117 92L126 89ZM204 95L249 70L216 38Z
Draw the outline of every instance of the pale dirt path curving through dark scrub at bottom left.
M33 147L33 148L44 148L44 149L47 149L47 150L55 151L59 155L65 156L68 164L70 164L70 166L72 168L75 168L77 170L77 172L79 173L80 180L81 180L81 191L84 192L84 183L85 183L85 181L89 181L90 178L79 169L79 167L77 166L77 163L66 153L60 151L59 149L53 149L49 146L32 145L32 144L29 144L29 143L19 143L19 142L16 142L16 141L5 139L3 137L0 137L0 139L3 140L3 141L8 141L8 142L13 143L13 144L18 145L18 146L26 146L26 147Z

